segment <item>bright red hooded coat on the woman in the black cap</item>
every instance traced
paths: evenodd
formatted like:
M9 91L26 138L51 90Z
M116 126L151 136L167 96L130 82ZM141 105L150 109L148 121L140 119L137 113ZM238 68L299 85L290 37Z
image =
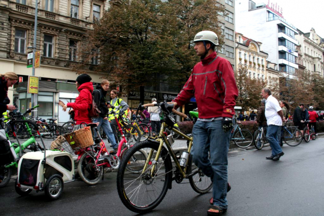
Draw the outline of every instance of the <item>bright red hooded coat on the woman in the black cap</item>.
M93 85L91 82L83 83L79 86L78 91L80 94L75 99L75 102L68 103L67 106L73 108L75 112L74 120L77 125L82 122L89 124L92 122L91 118L89 118L89 109L92 105Z

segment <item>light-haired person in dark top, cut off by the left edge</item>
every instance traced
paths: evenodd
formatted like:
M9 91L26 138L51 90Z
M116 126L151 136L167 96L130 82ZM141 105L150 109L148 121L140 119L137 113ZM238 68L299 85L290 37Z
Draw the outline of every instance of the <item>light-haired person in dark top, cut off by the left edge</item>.
M0 117L7 110L15 110L14 105L9 104L10 100L8 98L8 88L15 85L18 81L18 76L13 72L7 72L6 74L0 74Z

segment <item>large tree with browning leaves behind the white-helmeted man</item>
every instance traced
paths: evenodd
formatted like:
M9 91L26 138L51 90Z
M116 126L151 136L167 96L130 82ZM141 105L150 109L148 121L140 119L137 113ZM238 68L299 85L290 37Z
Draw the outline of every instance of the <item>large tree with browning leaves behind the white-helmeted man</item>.
M216 0L119 2L87 33L83 63L75 67L79 73L98 57L100 64L90 68L128 89L154 85L158 74L180 85L199 60L190 46L194 35L201 30L221 35L217 14L224 9Z

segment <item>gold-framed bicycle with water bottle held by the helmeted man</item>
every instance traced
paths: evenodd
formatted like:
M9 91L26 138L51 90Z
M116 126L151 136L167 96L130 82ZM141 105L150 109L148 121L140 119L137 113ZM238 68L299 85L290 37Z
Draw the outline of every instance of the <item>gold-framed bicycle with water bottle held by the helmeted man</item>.
M192 189L200 194L205 194L212 188L210 177L192 162L192 137L173 128L175 121L170 115L172 112L183 118L187 116L175 111L174 103L161 102L144 106L154 105L158 106L162 122L158 137L150 137L129 149L122 158L117 173L117 190L121 201L129 210L138 213L154 209L168 189L172 188L172 181L182 183L184 179L188 179ZM187 140L187 150L182 154L173 151L174 140L171 134L165 132L167 128ZM148 157L142 158L140 151L145 151ZM131 173L126 169L130 158L136 158L132 166L141 168L141 173Z

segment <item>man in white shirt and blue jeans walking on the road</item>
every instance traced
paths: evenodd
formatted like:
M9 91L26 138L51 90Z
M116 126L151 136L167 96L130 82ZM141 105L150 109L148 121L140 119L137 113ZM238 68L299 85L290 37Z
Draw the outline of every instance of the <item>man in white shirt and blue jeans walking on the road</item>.
M264 88L261 90L261 95L265 98L266 101L266 118L267 118L267 139L270 143L270 147L272 148L272 154L270 157L266 157L267 160L277 161L281 156L284 155L282 149L279 145L278 140L278 128L282 125L283 113L282 109L279 106L279 102L276 98L271 95L271 91L268 88Z

